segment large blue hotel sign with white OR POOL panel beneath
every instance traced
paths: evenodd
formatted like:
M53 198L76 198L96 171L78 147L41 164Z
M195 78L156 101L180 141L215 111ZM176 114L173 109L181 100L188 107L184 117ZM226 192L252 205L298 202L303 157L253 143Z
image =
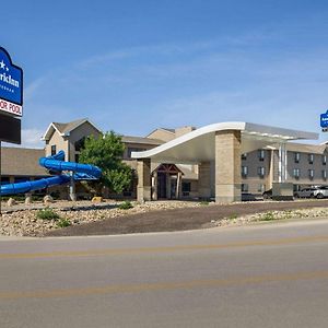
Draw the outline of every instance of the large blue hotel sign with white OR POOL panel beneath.
M23 70L13 65L5 49L0 47L0 110L23 115Z

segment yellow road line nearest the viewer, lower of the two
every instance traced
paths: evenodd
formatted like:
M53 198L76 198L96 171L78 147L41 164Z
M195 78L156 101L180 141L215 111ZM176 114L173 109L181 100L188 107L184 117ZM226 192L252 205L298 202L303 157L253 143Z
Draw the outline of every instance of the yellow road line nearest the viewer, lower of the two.
M328 271L318 272L298 272L290 274L277 276L259 276L234 279L208 279L208 280L191 280L183 282L160 282L160 283L142 283L142 284L122 284L122 285L105 285L99 288L83 288L83 289L66 289L66 290L49 290L49 291L32 291L32 292L0 292L1 300L20 300L20 298L51 298L51 297L70 297L70 296L89 296L102 294L117 293L140 293L150 291L168 291L168 290L185 290L195 288L224 288L237 286L247 284L261 284L268 282L283 281L301 281L327 279Z

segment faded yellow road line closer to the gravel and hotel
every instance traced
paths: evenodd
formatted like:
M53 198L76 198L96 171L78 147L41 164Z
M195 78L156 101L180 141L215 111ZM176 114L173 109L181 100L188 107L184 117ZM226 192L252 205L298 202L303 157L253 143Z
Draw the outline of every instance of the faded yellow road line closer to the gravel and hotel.
M19 253L19 254L0 254L0 259L26 259L39 257L86 257L86 256L106 256L106 255L129 255L129 254L151 254L151 253L174 253L184 250L208 250L225 249L249 246L274 246L300 243L328 242L328 236L294 237L280 238L271 241L250 241L229 244L209 244L209 245L180 245L165 247L142 247L142 248L109 248L94 250L70 250L70 251L49 251L49 253Z

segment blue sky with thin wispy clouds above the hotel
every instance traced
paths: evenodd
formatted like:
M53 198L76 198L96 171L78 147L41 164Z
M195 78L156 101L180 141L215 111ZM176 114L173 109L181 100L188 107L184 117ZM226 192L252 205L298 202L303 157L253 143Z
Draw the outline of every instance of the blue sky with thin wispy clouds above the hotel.
M24 70L23 145L51 121L103 131L249 121L320 132L328 2L2 1L0 46ZM328 139L320 133L319 142Z

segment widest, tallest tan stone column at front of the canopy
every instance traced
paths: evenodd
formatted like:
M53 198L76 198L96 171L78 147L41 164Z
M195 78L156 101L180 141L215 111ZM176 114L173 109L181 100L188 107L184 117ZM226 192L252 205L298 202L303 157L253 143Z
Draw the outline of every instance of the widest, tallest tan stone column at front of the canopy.
M234 202L242 199L241 145L241 131L216 131L215 202Z

